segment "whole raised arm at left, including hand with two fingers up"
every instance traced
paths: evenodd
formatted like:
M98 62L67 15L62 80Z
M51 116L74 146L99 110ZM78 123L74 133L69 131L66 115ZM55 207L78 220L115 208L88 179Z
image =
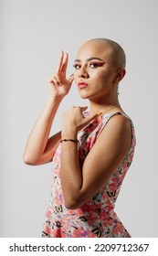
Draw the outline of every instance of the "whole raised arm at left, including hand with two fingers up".
M73 77L66 79L68 54L62 51L56 73L48 80L49 95L41 114L31 131L24 152L24 161L28 165L42 165L49 162L59 144L61 133L48 138L58 106L68 94Z

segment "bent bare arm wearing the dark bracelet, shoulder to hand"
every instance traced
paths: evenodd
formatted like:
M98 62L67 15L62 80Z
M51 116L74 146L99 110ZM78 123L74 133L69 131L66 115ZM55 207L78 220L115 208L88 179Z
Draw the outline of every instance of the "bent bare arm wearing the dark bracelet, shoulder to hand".
M73 114L77 110L71 109L70 112L71 116L77 116L77 113ZM64 123L66 125L63 126L67 129L63 127L62 139L75 139L77 135L74 129L75 124L69 120L68 122L71 123L69 129L65 118ZM112 117L107 123L87 155L82 170L79 166L77 144L63 142L61 186L65 206L67 208L79 208L93 197L106 184L112 172L130 150L131 144L131 123L122 115Z

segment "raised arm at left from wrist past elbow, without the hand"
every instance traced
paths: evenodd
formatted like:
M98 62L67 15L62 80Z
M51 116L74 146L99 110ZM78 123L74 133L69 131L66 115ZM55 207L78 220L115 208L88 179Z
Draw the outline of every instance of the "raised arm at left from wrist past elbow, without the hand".
M60 139L60 133L49 139L48 136L60 102L61 99L47 99L46 105L26 143L24 161L27 165L46 164L54 155Z

